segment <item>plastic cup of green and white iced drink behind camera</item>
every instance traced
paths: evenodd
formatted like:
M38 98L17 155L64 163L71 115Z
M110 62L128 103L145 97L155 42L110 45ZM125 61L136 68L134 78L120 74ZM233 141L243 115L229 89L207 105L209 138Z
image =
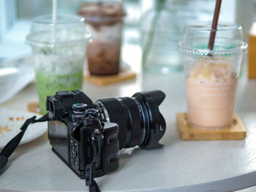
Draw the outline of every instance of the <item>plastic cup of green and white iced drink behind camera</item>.
M34 18L26 43L31 45L40 112L46 113L46 97L56 91L81 89L86 51L84 19L73 15Z

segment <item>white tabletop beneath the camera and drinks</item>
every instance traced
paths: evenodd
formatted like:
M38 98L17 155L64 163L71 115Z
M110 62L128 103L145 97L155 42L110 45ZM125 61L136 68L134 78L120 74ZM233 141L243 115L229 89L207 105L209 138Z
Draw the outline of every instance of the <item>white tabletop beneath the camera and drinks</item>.
M178 137L176 113L186 111L184 76L138 74L105 87L84 82L83 91L94 101L132 96L137 91L166 93L160 111L167 122L165 147L122 150L117 171L97 178L102 191L236 191L256 185L256 80L239 82L236 112L246 126L241 141L183 141ZM37 101L34 83L0 107L26 110ZM0 176L0 189L20 191L87 191L80 180L52 151L47 134L20 145Z

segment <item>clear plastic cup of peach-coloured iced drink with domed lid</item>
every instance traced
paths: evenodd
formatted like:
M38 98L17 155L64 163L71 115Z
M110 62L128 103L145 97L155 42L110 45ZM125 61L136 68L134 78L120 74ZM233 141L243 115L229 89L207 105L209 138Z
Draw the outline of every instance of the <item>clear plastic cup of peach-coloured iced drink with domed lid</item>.
M241 26L221 23L208 49L211 23L186 26L178 43L184 59L187 121L192 128L233 126L236 88L247 45Z

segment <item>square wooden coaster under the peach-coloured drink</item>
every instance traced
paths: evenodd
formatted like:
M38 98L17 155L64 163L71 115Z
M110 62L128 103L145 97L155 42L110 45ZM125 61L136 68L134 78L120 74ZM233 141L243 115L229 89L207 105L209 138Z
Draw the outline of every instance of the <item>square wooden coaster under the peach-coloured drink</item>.
M184 140L241 140L246 137L246 129L241 118L234 114L234 126L222 130L202 130L192 128L187 124L187 113L176 115L179 136Z

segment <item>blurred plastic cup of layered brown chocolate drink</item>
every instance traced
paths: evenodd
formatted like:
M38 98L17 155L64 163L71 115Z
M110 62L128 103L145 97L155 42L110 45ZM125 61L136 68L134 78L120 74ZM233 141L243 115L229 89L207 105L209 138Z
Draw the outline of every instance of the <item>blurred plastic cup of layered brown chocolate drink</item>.
M118 74L124 9L121 1L82 4L78 15L85 18L92 41L86 45L90 74Z

